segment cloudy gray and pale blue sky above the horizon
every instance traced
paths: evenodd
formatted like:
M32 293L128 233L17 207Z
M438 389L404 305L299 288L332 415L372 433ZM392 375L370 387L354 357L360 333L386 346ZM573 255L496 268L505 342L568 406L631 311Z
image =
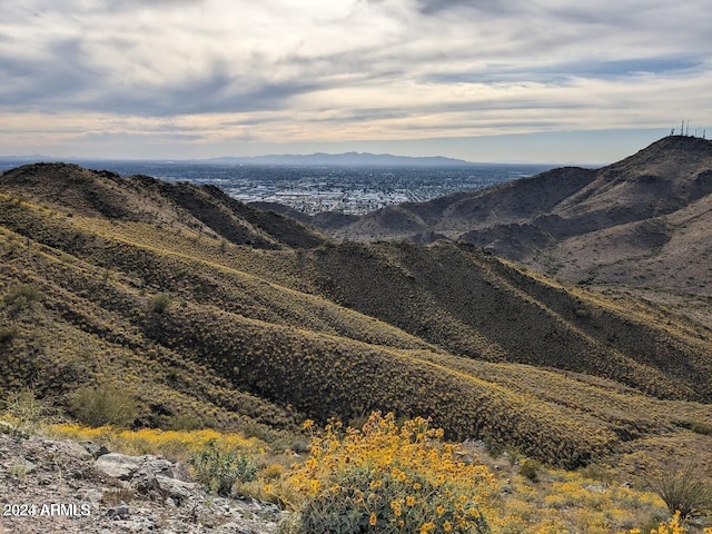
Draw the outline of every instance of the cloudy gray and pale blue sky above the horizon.
M0 156L613 162L712 138L710 0L0 0Z

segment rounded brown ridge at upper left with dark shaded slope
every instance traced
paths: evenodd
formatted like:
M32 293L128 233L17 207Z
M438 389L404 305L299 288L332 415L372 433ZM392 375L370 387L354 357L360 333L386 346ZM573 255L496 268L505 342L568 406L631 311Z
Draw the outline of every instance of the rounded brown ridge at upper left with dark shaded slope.
M325 241L308 226L238 202L212 186L169 184L148 176L121 178L70 164L34 164L9 170L1 184L72 215L152 222L199 231L256 248L314 247Z

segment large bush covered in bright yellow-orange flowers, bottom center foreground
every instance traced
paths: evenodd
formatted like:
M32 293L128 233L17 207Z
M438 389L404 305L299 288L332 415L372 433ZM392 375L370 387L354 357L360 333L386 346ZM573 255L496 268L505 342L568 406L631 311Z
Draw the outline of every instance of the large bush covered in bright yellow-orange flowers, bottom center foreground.
M362 431L328 425L274 490L295 510L280 532L491 532L479 511L492 474L459 462L441 437L425 419L398 427L392 414L372 415Z

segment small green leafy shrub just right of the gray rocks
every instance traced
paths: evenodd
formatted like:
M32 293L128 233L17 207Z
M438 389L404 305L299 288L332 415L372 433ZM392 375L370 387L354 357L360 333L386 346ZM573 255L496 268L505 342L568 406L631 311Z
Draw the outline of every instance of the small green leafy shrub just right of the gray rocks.
M235 483L251 482L257 477L255 461L218 447L215 442L208 442L202 451L190 456L188 465L197 482L221 496L230 495Z

